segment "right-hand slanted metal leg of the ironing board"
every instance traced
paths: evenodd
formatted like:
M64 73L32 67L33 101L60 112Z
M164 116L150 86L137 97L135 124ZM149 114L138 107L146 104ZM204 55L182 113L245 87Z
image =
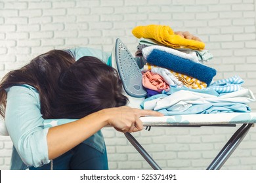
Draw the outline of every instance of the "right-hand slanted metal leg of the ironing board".
M219 152L215 159L211 162L207 170L219 170L224 165L226 160L231 156L231 154L236 150L240 142L243 141L245 135L249 131L251 125L253 124L243 124L237 131L232 135L228 142L226 142L223 149Z

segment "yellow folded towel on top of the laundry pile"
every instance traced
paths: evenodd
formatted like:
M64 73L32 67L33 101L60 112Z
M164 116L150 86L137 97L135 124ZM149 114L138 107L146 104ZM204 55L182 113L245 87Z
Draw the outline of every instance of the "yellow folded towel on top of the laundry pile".
M145 25L137 26L132 31L137 38L154 39L161 44L172 48L190 48L192 50L203 50L205 44L200 41L185 39L175 35L173 29L166 25Z

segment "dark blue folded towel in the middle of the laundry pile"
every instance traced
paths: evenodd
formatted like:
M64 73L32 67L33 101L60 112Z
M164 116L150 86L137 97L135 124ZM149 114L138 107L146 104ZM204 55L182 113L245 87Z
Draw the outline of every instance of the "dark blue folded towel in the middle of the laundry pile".
M216 70L211 67L207 67L201 63L196 63L189 59L184 59L161 50L154 49L148 58L146 58L146 61L152 65L164 67L171 71L175 71L176 73L197 78L198 80L205 82L207 86L216 75Z

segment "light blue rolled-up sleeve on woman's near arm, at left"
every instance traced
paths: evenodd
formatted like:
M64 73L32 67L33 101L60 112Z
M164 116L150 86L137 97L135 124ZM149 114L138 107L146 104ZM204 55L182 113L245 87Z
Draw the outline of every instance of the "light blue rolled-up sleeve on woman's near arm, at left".
M42 118L35 89L22 85L7 90L5 123L14 147L28 166L40 167L50 162L47 146L49 127L44 127L49 121L53 120Z

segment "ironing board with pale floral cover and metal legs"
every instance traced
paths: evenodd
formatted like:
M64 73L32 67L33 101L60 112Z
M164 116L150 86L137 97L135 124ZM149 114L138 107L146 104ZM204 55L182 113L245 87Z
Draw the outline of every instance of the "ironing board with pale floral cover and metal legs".
M234 126L242 124L236 132L226 142L216 158L213 159L207 170L218 170L224 165L226 160L236 150L240 142L243 141L245 135L256 124L256 112L250 113L219 113L219 114L188 114L177 116L146 116L140 117L142 124L146 127L201 127L201 126ZM125 133L125 137L131 142L140 155L149 163L153 169L160 170L156 161L150 157L148 152L140 145L140 143L131 135Z

